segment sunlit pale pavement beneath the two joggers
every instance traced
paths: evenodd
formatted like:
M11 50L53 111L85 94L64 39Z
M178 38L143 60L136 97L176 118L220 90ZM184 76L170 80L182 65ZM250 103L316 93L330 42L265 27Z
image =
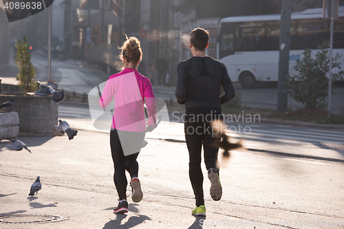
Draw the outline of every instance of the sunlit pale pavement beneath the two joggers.
M79 129L74 140L66 136L20 138L32 154L0 151L0 182L6 184L0 191L0 215L45 214L69 219L43 224L2 223L1 228L344 227L343 163L263 151L233 151L229 161L222 160L222 200L212 201L206 191L207 217L192 217L189 156L184 142L171 141L183 140L183 124L175 122L162 122L147 133L149 144L138 157L144 199L133 204L128 188L129 213L110 221L109 217L115 217L111 211L118 197L112 182L109 134L94 131L88 119L66 120ZM254 142L245 144L252 146ZM292 151L307 148L280 144ZM321 151L327 154L328 150ZM205 173L203 164L202 169ZM28 197L37 175L43 188L36 197ZM208 190L210 182L206 174L204 177L204 190ZM224 224L212 226L219 222Z

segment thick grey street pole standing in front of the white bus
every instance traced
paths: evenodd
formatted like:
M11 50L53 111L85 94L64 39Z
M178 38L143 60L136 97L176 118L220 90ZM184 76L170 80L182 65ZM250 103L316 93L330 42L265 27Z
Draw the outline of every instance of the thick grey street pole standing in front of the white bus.
M281 112L288 110L288 94L284 83L286 82L286 76L289 74L290 17L290 0L283 0L279 34L279 82L277 94L277 111Z

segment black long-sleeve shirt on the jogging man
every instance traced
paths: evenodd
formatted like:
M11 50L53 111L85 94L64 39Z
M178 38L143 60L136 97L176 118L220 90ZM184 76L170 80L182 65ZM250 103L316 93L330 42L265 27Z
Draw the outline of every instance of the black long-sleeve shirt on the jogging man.
M219 96L220 89L225 93ZM194 56L178 65L175 89L178 103L186 109L194 107L217 107L235 97L235 90L224 63L210 56Z

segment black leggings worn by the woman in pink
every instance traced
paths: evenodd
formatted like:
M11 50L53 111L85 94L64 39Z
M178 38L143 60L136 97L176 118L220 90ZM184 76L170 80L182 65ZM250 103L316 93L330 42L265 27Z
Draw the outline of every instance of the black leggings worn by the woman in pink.
M144 132L127 132L131 135L130 140L142 145L142 140L144 139ZM122 142L125 143L125 142ZM122 149L122 144L118 136L118 131L116 129L110 131L110 146L112 160L114 161L114 183L120 199L127 199L127 177L125 176L125 170L130 174L131 179L133 177L138 177L138 153L133 153L125 156Z

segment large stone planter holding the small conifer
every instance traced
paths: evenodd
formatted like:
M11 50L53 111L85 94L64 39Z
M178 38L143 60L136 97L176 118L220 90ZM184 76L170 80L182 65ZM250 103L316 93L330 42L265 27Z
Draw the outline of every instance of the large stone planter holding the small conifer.
M19 136L52 136L58 120L58 103L51 96L0 95L0 104L14 100L10 111L19 115Z

